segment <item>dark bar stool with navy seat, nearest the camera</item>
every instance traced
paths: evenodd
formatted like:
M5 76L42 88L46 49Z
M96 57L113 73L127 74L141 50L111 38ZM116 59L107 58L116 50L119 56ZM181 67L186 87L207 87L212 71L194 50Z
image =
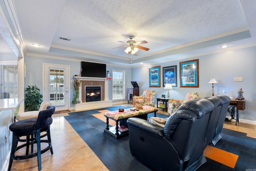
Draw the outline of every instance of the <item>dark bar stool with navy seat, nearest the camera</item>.
M50 136L50 125L52 124L52 114L55 111L54 106L48 106L46 110L39 112L37 118L24 119L22 121L14 122L9 129L12 131L12 149L10 154L10 161L8 171L11 170L13 160L22 160L36 157L38 159L38 170L42 169L41 154L50 149L52 151L52 141ZM42 139L40 133L46 131L47 139ZM20 137L26 136L26 143L18 145L21 141ZM41 143L48 143L48 146L41 150ZM34 144L37 144L37 151L34 152ZM31 153L28 152L31 145ZM26 155L15 155L15 151L26 147Z

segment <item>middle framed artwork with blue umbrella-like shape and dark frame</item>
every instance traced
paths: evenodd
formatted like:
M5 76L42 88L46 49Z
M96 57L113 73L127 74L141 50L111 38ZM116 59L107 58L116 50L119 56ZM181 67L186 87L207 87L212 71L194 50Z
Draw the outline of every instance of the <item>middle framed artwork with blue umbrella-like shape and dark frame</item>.
M177 87L177 66L163 67L163 87L165 84L172 84L172 87Z

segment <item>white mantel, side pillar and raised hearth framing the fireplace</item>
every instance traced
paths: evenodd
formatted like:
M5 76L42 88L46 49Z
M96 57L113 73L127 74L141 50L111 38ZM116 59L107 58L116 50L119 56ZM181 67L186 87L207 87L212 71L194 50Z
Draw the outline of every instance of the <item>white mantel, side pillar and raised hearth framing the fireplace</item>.
M79 81L104 81L104 100L102 101L89 101L77 103L74 105L74 110L85 110L95 109L102 107L112 106L112 100L108 99L108 79L107 78L96 78L96 77L74 77ZM79 88L79 101L82 101L82 86Z

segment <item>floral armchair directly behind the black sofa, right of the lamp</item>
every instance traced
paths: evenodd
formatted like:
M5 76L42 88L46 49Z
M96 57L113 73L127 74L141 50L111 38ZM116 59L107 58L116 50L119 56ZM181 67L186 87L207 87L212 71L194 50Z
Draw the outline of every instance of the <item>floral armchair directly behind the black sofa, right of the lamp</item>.
M196 93L196 91L190 91L187 93L186 98L182 100L176 100L176 99L169 99L168 101L168 113L171 115L174 113L180 105L183 103L186 103L187 101L191 101L193 99L198 98L199 94Z

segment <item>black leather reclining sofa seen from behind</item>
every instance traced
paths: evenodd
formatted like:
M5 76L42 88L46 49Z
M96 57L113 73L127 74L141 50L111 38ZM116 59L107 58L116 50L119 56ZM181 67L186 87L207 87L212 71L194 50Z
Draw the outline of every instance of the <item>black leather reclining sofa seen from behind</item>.
M222 129L225 118L222 122L220 113L227 112L226 104L230 102L229 97L223 96L183 103L170 115L164 128L143 119L129 118L132 156L153 170L196 170L206 162L205 147Z

